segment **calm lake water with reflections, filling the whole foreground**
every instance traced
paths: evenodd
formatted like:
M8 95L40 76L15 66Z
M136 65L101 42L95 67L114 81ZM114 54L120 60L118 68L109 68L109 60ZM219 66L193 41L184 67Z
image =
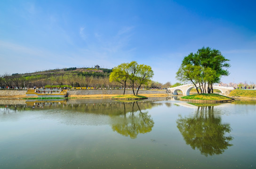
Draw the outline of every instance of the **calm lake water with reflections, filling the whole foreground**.
M0 106L0 169L256 169L256 101Z

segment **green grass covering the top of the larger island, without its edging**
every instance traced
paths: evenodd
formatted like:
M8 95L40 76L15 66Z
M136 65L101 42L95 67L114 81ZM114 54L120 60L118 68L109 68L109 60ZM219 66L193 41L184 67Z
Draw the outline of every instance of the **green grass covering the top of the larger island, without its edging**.
M219 95L219 94L193 94L189 96L181 97L182 99L194 99L194 100L229 100L232 98Z

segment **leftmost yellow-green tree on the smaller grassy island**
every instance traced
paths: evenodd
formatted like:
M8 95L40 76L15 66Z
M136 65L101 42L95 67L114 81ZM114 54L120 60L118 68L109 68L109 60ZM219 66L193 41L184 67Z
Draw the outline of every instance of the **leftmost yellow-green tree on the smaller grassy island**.
M125 94L125 89L126 89L126 82L129 77L129 71L128 71L128 63L122 63L118 65L117 67L114 67L112 69L112 72L109 76L109 81L115 81L119 82L120 84L124 85L124 94Z

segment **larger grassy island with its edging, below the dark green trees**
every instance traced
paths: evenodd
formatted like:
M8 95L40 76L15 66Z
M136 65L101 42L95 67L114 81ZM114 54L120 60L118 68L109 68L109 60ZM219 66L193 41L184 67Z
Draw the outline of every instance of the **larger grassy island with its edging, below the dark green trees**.
M230 102L234 99L229 98L227 96L219 95L219 94L193 94L189 96L181 97L180 100L183 101L192 101L197 103L224 103Z

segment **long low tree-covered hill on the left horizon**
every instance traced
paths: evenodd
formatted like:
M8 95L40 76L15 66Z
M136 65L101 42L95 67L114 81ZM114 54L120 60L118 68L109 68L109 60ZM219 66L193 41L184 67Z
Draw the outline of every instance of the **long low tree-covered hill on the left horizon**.
M43 86L73 86L73 87L113 87L109 83L112 69L102 68L64 68L37 71L32 73L12 75L5 74L0 77L1 88L43 87Z

